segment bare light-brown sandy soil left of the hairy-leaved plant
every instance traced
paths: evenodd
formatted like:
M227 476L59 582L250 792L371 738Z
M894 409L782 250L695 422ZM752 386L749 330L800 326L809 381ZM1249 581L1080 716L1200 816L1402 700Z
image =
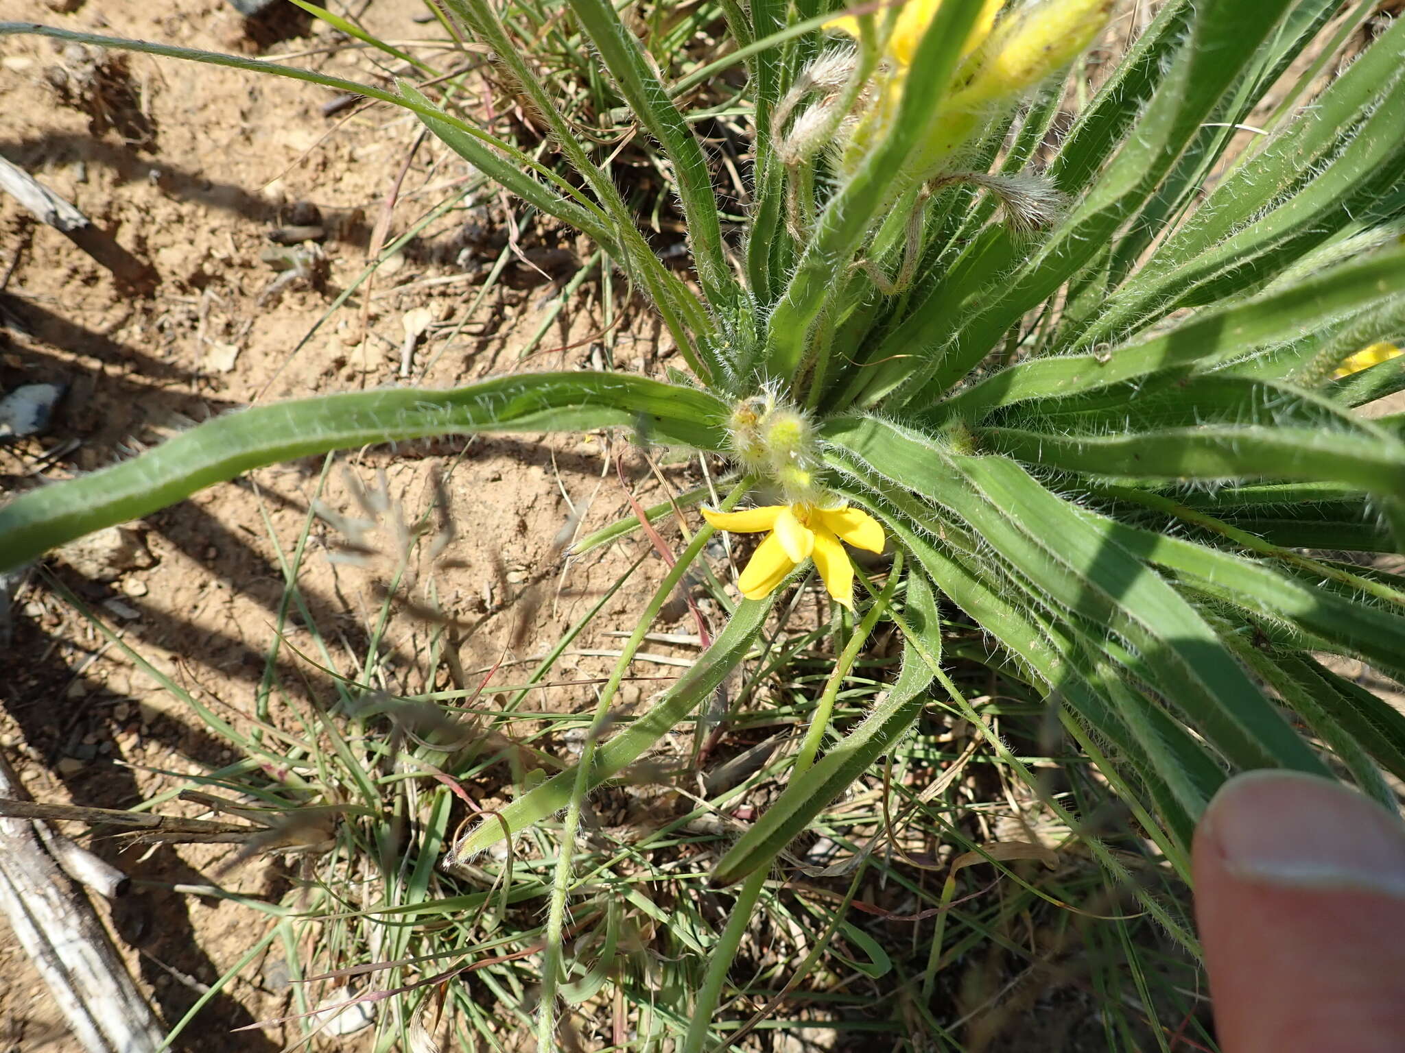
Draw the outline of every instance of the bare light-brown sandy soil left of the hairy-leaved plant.
M423 10L419 0L377 0L365 21L393 41L436 35L437 27L412 21ZM377 74L364 51L327 53L339 38L318 22L282 20L250 34L218 0L104 0L80 3L70 14L44 0L10 0L4 14L215 51L323 49L294 60L353 79ZM413 369L414 379L430 385L599 365L603 357L662 375L649 324L627 323L601 336L596 281L565 305L534 354L518 361L590 249L559 232L518 225L492 192L430 223L375 275L370 296L362 286L325 319L336 295L361 275L396 180L403 178L386 240L468 176L437 140L422 142L412 156L419 128L386 107L326 117L322 107L334 95L318 86L139 55L104 56L32 37L6 38L0 48L0 154L155 268L149 289L122 288L65 237L0 199L0 274L8 274L0 295L0 388L56 382L67 389L46 434L0 446L6 490L98 468L190 421L251 402L396 382L403 317L412 309L430 317ZM266 258L280 251L271 234L313 225L325 229L325 240L305 243L316 256L305 267L309 274L281 281L287 271ZM509 237L520 253L471 310L488 264ZM615 307L628 312L622 302ZM384 472L391 496L409 514L433 497L433 473L444 476L457 541L438 569L417 569L419 595L427 595L433 580L443 608L478 626L461 649L465 668L490 664L504 649L509 658L535 653L642 552L643 542L627 542L565 566L561 559L559 542L572 529L628 512L614 470L604 475L606 442L600 435L441 441L341 459L346 473L365 484ZM625 466L646 504L662 500L636 455ZM665 475L681 483L684 470ZM76 560L58 567L65 587L121 635L119 646L104 642L44 581L27 583L7 661L11 675L0 687L0 747L35 797L131 806L232 757L122 646L201 698L246 710L284 590L278 550L296 543L320 473L320 458L254 472L148 518L138 525L133 552L97 566ZM322 500L360 514L341 469L327 477ZM676 541L672 531L665 535ZM329 555L340 543L334 529L315 522L302 588L323 635L340 647L337 657L350 661L375 618L374 585L386 560L372 560L370 569L334 563ZM646 581L622 592L606 621L632 628ZM430 632L413 618L392 623L386 664L406 689L445 682L444 670L424 668ZM308 633L291 639L306 640ZM600 633L580 642L580 650L617 646ZM669 649L660 643L651 650ZM570 657L562 673L590 675L603 661ZM280 671L291 681L308 673ZM316 677L311 682L315 689ZM639 691L629 687L625 702ZM590 701L587 692L555 692L549 705L573 709ZM118 854L111 842L97 848L133 878L156 883L204 882L222 855L215 847L145 856ZM280 873L273 863L253 862L223 883L271 890ZM167 1021L178 1019L250 941L240 908L156 886L139 883L128 899L100 910ZM8 929L0 929L0 1047L76 1049ZM267 967L249 970L202 1012L191 1046L275 1050L291 1033L229 1032L277 1016L285 1004L287 990L268 979Z

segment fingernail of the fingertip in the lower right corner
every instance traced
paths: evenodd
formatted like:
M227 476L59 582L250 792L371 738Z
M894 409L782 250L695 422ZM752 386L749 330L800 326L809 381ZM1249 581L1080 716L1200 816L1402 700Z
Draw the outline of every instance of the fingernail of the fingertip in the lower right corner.
M1405 899L1405 826L1329 779L1236 775L1205 809L1201 834L1241 880Z

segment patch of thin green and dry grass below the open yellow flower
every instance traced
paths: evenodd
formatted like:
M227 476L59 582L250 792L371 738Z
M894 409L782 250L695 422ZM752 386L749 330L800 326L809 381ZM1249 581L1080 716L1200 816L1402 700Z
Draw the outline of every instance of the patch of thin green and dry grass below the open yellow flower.
M329 479L329 470L323 470L309 498L320 498ZM431 522L427 511L403 518L422 528L412 529L412 545L426 546ZM517 737L511 748L537 741L548 750L556 744L559 750L563 737L570 741L572 730L579 733L592 717L542 708L540 701L534 703L534 696L549 691L555 664L570 643L582 632L600 629L601 609L638 576L641 560L632 560L601 600L552 642L528 677L492 682L495 702L485 703L476 688L403 694L392 689L385 695L392 682L407 687L407 681L433 682L434 667L398 668L388 681L389 670L381 665L386 654L384 640L426 628L403 612L396 614L389 592L378 608L365 612L370 636L364 650L346 656L341 642L329 639L311 616L298 585L309 559L306 541L315 515L309 512L287 541L270 519L266 524L268 543L284 569L285 590L256 712L221 716L174 682L164 682L211 731L257 755L261 764L230 765L180 781L146 806L159 809L181 789L204 786L232 800L259 802L289 816L332 802L350 802L354 807L340 812L334 844L292 865L296 887L281 904L243 901L250 910L249 952L221 977L215 990L228 988L239 976L250 976L264 955L281 948L294 979L285 1015L309 1014L329 991L344 984L350 984L353 998L399 990L400 994L374 1002L377 1047L410 1049L416 1040L412 1032L426 1028L448 1036L450 1045L458 1040L452 1036L464 1039L472 1033L489 1040L489 1047L514 1049L514 1036L540 1021L535 1007L541 962L552 932L551 920L544 922L544 911L555 880L558 896L566 893L570 903L569 915L559 922L563 941L556 952L565 998L561 1026L573 1029L589 1049L617 1047L610 1031L617 1012L622 1014L618 1021L627 1033L634 1036L620 1049L658 1047L665 1039L683 1042L690 1018L677 1005L686 993L704 983L702 963L719 946L726 951L722 959L726 967L717 972L714 983L719 986L722 1008L715 1019L705 1022L708 1026L693 1028L695 1049L721 1049L743 1019L757 1036L746 1042L776 1031L798 1036L825 1026L842 1043L880 1035L887 1036L885 1042L896 1042L908 1035L913 1049L924 1047L926 1042L960 1047L961 1035L974 1033L975 1026L971 1021L962 1024L961 1015L985 1021L986 1028L996 1026L991 1014L999 1014L1002 1000L986 993L985 1001L968 1004L972 995L965 991L967 970L975 967L972 960L991 955L999 958L999 973L1006 981L1054 969L1052 959L1045 960L1044 955L1061 962L1080 960L1076 966L1058 966L1051 976L1069 969L1087 970L1087 976L1076 980L1064 977L1087 1000L1082 1016L1111 1014L1125 1033L1175 1031L1175 1024L1159 1021L1163 1008L1154 1004L1162 997L1154 997L1154 988L1159 991L1158 984L1168 983L1163 970L1141 965L1144 953L1165 956L1166 939L1137 904L1138 893L1114 880L1079 847L1078 831L1065 831L1064 844L1055 840L1064 862L1054 873L1021 866L1007 870L1000 863L976 866L961 872L954 901L943 893L953 855L998 840L989 824L1014 817L1009 802L1020 803L1019 814L1027 821L1048 819L1040 799L1030 795L1012 768L998 757L965 748L972 727L958 717L924 720L919 733L903 740L885 764L861 776L844 799L816 817L811 834L787 852L790 866L804 865L813 875L801 870L777 880L767 870L757 872L747 886L754 914L739 911L731 893L711 890L711 861L740 828L732 817L735 809L740 802L764 800L780 782L798 774L805 755L798 748L798 731L808 726L813 739L816 729L823 730L829 720L842 727L867 712L884 689L881 678L860 674L858 668L850 677L842 674L843 665L833 673L835 656L828 650L832 644L826 635L804 625L785 629L777 623L764 649L753 650L746 663L752 702L732 713L732 734L747 741L777 727L794 731L742 782L710 799L690 792L686 769L663 781L659 781L662 772L642 781L627 779L635 788L632 792L651 802L651 819L618 830L593 827L583 835L572 834L558 820L541 823L531 827L528 838L516 840L510 855L479 856L445 872L438 862L452 841L454 827L472 814L465 810L462 788L499 786L497 793L510 795L513 782L525 779L525 785L532 785L534 779L530 771L514 771L504 764L507 753L502 750L454 750L436 744L436 737L452 741L452 727L476 726L486 731L535 726L537 731ZM705 542L705 535L697 538ZM392 553L392 578L412 564L414 555L414 549ZM889 577L889 588L896 581ZM670 592L666 588L660 595ZM96 616L94 623L98 623ZM877 614L868 619L871 626L884 623ZM291 639L288 632L295 625L306 632L296 635L298 651L289 653L282 640ZM948 622L946 629L953 640L971 632L960 622ZM851 636L846 650L850 661L864 653L858 644L867 632L863 628ZM139 658L135 651L129 657ZM333 674L325 682L333 687L336 702L309 706L305 684L285 682L287 674L278 671L287 668L289 657L308 677ZM888 658L874 657L863 660L861 667L881 671L889 664ZM628 661L622 658L617 671L624 668ZM969 675L975 688L984 674L972 667ZM844 685L842 691L839 685ZM762 691L771 692L771 703L757 708ZM414 741L398 727L393 706L382 705L382 716L358 716L368 710L357 699L372 694L386 703L433 705L452 727L445 723L427 740ZM1102 799L1089 762L1078 753L1066 746L1062 755L1047 755L1038 748L1027 751L1035 740L1020 739L1030 731L1019 729L1038 733L1045 723L1037 699L989 699L976 705L982 719L999 722L1007 740L1026 744L1026 751L1017 755L1020 765L1072 776L1069 789L1059 796ZM613 710L604 706L604 712ZM618 719L628 722L629 715ZM680 744L690 739L688 722L679 734ZM669 764L686 760L684 747L681 757ZM960 764L960 778L950 776L948 765L954 762ZM282 778L270 779L270 769L282 772ZM941 778L944 769L948 775ZM937 783L941 788L936 796L926 792ZM590 810L608 807L618 793L592 795ZM1083 804L1071 802L1080 812ZM1087 809L1096 810L1090 803ZM1127 827L1121 837L1110 838L1106 830L1097 833L1110 848L1138 859L1138 882L1152 878L1148 887L1161 887L1156 894L1165 896L1168 904L1176 901L1173 875L1155 852L1146 852L1142 838ZM559 865L565 858L563 838L575 845L569 872ZM808 859L806 845L821 840L830 845L829 854ZM847 858L853 865L836 869L836 858ZM568 873L565 885L562 873ZM1146 889L1138 892L1145 894ZM863 911L853 908L853 900L864 904ZM566 899L558 903L565 904ZM1079 911L1087 910L1087 904L1102 904L1102 913L1114 920L1083 917ZM731 939L721 935L729 917L735 922ZM1109 935L1097 936L1104 927L1110 927ZM1033 942L1031 932L1040 934ZM1094 943L1097 939L1104 943L1111 939L1121 949L1111 955L1110 945ZM1189 969L1183 958L1166 960ZM462 972L469 967L472 972ZM340 970L353 974L308 980ZM940 1014L913 1036L913 1004L902 988L895 988L895 979L908 974L919 986L926 976L932 986L927 1004L950 1000L964 1011L946 1019ZM436 976L441 979L416 986ZM1151 1008L1127 1012L1130 1000ZM769 1012L757 1018L762 1009ZM197 1019L197 1012L198 1008L174 1022L173 1038ZM917 1019L929 1012L919 1012ZM334 1014L322 1014L320 1019L329 1015ZM601 1015L608 1026L599 1022ZM319 1016L309 1015L281 1026L284 1035L295 1038L311 1036L318 1024Z

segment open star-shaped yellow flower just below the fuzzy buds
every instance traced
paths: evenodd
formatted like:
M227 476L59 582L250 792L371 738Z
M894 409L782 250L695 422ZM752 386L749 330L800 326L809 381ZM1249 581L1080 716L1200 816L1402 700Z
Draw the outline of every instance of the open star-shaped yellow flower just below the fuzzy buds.
M885 542L878 521L849 505L773 504L739 512L704 508L702 518L732 534L770 531L736 583L747 600L770 595L797 566L813 559L829 595L853 609L854 567L840 541L868 552L882 552Z

